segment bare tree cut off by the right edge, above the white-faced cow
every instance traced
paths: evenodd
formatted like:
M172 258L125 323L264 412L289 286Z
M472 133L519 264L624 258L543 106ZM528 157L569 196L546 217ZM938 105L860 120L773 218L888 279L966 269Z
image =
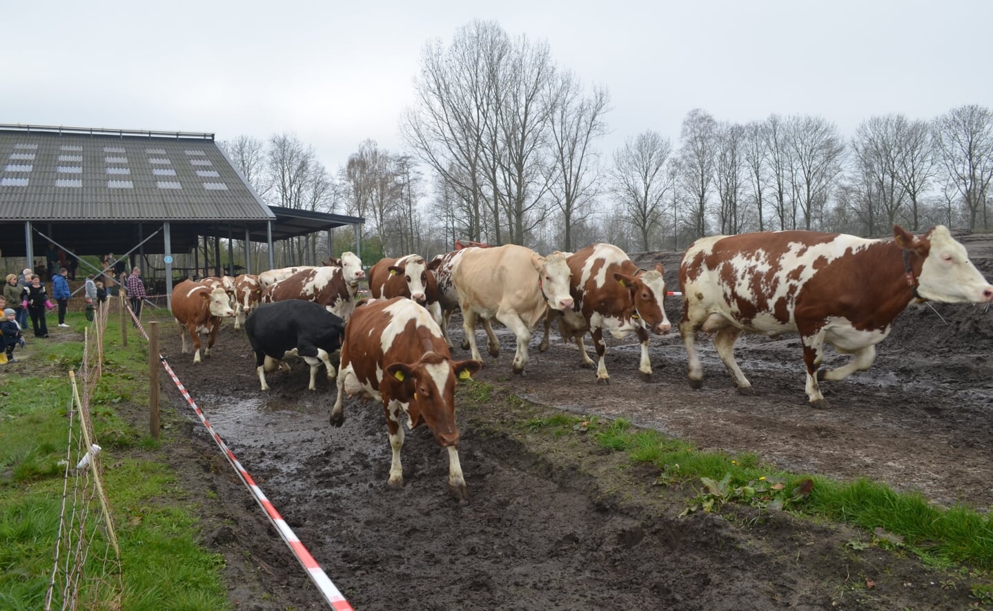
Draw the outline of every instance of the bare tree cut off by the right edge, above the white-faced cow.
M952 178L967 212L968 229L990 228L986 197L993 180L993 113L975 104L953 108L934 120L938 160Z

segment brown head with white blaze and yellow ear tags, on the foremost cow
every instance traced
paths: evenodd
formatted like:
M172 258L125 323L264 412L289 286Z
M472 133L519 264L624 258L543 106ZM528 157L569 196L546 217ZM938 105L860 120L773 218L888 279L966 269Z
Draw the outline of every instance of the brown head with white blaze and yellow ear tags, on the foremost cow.
M385 376L402 382L395 398L409 402L407 414L411 428L421 422L428 425L442 447L459 445L455 424L455 382L483 369L479 361L452 361L435 352L425 353L416 363L392 363Z

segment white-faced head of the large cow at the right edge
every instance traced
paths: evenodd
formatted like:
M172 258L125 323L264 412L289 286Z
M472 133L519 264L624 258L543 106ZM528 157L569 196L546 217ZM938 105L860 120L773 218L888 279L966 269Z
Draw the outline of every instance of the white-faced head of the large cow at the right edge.
M913 255L923 259L918 280L918 294L923 299L945 303L991 303L993 286L979 273L969 254L956 241L948 228L938 225L922 237L896 225L893 233L897 243L904 248L909 280L913 282L910 266Z

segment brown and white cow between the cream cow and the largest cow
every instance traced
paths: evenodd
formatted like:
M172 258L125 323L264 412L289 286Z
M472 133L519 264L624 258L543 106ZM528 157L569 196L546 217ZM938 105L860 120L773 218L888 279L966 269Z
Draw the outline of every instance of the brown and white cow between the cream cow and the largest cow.
M664 269L660 264L649 271L638 269L621 248L613 244L596 243L567 259L569 280L575 307L562 312L559 333L572 338L579 348L583 367L593 367L586 354L583 336L589 332L597 350L597 382L610 383L604 354L604 331L616 338L626 338L633 332L641 343L641 363L638 371L644 380L651 377L648 360L648 331L656 335L667 333L672 326L665 316Z

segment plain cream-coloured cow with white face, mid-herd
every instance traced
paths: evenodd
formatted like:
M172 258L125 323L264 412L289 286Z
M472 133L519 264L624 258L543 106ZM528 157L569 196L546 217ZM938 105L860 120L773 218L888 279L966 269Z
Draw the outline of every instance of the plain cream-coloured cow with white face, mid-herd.
M496 318L517 338L514 374L524 373L531 329L545 309L571 310L573 306L569 264L561 252L543 257L515 244L471 248L456 262L452 279L459 293L463 329L473 358L482 359L476 347L476 319ZM496 337L490 338L489 348L491 355L499 354Z

